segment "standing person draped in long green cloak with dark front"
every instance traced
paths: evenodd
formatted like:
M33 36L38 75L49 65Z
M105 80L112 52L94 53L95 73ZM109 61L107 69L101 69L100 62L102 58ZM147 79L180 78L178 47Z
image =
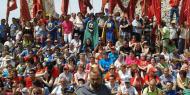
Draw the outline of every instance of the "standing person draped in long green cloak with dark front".
M94 14L90 14L90 20L88 21L85 29L83 43L85 43L87 39L90 39L93 49L98 45L98 21L96 20Z

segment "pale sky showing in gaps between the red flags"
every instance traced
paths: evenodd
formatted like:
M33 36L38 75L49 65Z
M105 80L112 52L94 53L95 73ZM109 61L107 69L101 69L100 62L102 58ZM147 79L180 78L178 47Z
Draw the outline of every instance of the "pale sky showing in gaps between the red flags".
M93 5L93 10L91 12L100 12L101 10L101 1L102 0L91 0L91 4ZM61 0L54 0L55 3L55 11L58 14L61 14ZM0 0L0 19L6 17L6 5L7 5L7 0ZM10 12L9 20L12 17L18 18L20 16L19 8L20 8L20 0L17 0L17 6L18 8L14 11ZM73 12L79 12L79 5L78 5L78 0L70 0L69 3L69 13Z

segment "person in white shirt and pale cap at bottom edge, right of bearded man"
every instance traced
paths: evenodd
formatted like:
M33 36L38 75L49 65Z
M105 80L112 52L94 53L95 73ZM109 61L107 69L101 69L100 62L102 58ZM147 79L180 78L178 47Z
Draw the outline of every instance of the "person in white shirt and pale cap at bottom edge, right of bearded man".
M118 87L117 95L139 95L136 88L130 84L129 79L125 79L123 84Z

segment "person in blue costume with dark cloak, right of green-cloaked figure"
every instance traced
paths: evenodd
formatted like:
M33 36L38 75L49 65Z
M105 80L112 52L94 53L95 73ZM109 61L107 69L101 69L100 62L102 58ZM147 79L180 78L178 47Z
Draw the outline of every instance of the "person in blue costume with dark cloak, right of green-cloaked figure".
M102 38L104 41L111 41L115 43L118 38L118 29L117 24L113 19L113 16L110 14L108 20L104 24Z

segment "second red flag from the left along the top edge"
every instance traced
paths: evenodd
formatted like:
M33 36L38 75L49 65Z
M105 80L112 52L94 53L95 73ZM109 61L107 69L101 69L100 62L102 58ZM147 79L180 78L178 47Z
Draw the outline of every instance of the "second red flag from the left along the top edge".
M26 0L20 0L20 17L22 21L29 21L31 19L28 2Z

